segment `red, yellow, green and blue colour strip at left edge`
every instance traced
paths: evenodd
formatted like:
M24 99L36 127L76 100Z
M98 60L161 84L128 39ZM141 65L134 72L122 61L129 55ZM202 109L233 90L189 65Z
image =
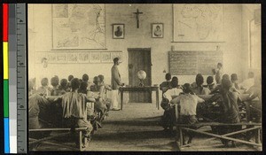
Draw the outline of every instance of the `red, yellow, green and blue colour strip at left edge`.
M4 62L4 153L10 153L9 134L9 70L8 70L8 4L3 4L3 62Z

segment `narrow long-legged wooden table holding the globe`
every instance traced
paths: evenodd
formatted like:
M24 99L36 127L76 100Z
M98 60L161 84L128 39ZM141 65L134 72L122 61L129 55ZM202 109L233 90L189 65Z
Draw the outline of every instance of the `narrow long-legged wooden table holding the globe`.
M124 91L149 91L149 92L156 92L156 107L160 108L159 105L159 87L158 86L145 86L145 87L121 87L119 88L120 92L121 92L121 110L123 109L123 93Z

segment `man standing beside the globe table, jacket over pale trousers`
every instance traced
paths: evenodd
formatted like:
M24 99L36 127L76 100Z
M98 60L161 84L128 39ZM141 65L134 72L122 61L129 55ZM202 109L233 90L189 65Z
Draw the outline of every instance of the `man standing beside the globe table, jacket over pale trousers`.
M119 58L113 58L113 66L111 69L111 74L112 74L112 78L111 78L111 86L112 86L112 103L113 103L113 111L119 111L120 108L118 107L118 89L120 86L122 86L123 84L121 83L121 75L119 74L119 70L118 67L119 64L121 62L119 62Z

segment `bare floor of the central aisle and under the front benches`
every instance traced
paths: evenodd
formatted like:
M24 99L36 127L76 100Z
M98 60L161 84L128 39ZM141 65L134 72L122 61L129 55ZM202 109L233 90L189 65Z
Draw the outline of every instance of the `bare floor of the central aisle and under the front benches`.
M91 138L86 151L179 151L175 134L168 134L160 127L160 116L155 104L127 104L122 111L111 111ZM207 129L207 128L205 128ZM237 143L237 148L224 148L215 139L200 143L207 136L193 138L195 145L182 151L258 151L252 146ZM63 141L66 142L66 141ZM67 151L67 149L41 144L38 151Z

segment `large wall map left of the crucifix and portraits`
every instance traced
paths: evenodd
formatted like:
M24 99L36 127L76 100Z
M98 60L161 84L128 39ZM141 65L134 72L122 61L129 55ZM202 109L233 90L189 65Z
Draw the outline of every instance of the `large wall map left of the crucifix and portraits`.
M105 4L52 4L53 49L105 49Z

